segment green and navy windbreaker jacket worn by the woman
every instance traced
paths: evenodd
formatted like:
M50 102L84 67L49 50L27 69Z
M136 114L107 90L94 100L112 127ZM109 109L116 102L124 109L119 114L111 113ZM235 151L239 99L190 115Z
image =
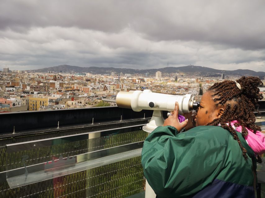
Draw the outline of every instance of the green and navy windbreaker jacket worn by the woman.
M144 141L144 175L157 197L254 197L254 152L237 135L247 160L222 127L157 127Z

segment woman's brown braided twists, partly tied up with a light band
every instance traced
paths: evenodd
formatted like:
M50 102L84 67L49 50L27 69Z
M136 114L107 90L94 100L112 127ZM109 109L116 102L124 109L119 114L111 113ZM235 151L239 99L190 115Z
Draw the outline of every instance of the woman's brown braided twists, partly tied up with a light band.
M240 84L241 89L236 85L236 82ZM225 80L220 83L215 83L209 88L212 92L213 100L219 104L225 105L226 108L220 118L214 119L207 125L217 126L221 124L221 127L228 130L237 140L245 159L247 159L247 151L241 144L236 131L231 126L231 121L237 120L235 127L242 126L243 136L248 135L248 131L245 127L248 127L254 133L261 131L261 128L255 125L256 117L254 115L255 106L257 106L258 100L263 98L259 93L258 86L263 85L258 77L248 76L241 77L239 80L231 81ZM228 125L226 123L229 123ZM258 156L258 162L261 163L261 159Z

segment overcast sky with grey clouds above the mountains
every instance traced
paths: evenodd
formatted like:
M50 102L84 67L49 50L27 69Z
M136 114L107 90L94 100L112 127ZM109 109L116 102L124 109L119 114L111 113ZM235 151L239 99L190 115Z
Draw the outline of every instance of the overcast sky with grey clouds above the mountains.
M264 0L1 0L0 68L265 71Z

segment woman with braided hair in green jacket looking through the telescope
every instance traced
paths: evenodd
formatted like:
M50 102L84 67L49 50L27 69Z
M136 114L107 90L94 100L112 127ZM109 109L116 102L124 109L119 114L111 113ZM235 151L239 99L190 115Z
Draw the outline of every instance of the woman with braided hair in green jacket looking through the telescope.
M144 175L157 197L255 197L256 155L245 139L260 133L253 113L262 99L259 85L257 77L244 76L214 84L203 94L196 127L184 133L178 131L192 122L179 123L176 103L142 150ZM257 141L265 145L263 140Z

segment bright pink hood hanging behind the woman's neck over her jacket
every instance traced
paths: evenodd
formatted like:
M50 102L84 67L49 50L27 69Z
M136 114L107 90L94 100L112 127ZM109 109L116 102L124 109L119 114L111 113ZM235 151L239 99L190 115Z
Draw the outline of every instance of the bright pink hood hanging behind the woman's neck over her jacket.
M231 122L231 126L238 132L241 133L242 127L235 127L234 124L237 123L236 120ZM265 153L265 135L260 132L256 131L256 134L249 128L246 128L249 134L245 137L246 142L249 144L250 148L254 151L255 154L261 155Z

